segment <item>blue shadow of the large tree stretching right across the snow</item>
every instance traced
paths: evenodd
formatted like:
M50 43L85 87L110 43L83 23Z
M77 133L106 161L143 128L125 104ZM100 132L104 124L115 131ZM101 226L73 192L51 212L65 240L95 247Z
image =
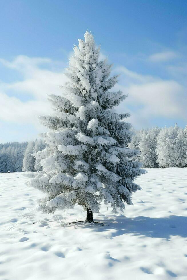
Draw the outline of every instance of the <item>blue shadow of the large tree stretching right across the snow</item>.
M170 236L187 237L187 217L170 216L167 218L116 217L103 220L109 227L95 227L94 231L110 231L111 237L123 234L144 235L146 237L166 238Z

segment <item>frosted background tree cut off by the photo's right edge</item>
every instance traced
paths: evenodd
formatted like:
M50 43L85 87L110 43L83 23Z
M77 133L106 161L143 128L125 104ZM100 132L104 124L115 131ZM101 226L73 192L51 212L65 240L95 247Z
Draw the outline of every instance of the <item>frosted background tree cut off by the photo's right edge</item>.
M176 165L179 167L186 166L186 151L187 151L187 139L184 130L180 130L175 143L175 155Z

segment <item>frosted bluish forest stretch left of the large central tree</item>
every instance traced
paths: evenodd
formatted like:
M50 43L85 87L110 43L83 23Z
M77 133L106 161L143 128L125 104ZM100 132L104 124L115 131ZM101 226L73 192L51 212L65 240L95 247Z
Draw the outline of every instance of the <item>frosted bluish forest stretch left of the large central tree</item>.
M41 165L32 156L45 148L43 140L0 144L0 172L40 171Z

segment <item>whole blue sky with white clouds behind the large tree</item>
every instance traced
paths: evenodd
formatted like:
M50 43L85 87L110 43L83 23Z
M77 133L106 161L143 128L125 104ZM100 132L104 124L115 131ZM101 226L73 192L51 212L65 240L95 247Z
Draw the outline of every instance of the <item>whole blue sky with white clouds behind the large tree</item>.
M0 0L0 142L45 131L37 115L60 93L77 39L91 30L128 93L118 111L141 127L187 124L186 1Z

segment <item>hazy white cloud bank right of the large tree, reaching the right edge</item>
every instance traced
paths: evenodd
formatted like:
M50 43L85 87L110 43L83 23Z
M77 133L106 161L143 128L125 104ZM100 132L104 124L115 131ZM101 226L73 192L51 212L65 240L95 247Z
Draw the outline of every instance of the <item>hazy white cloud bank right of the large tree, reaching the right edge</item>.
M118 107L120 112L130 111L129 121L137 128L149 126L153 118L187 119L186 89L174 80L163 80L140 75L120 67L122 77L116 87L128 94ZM128 108L130 110L128 110Z

